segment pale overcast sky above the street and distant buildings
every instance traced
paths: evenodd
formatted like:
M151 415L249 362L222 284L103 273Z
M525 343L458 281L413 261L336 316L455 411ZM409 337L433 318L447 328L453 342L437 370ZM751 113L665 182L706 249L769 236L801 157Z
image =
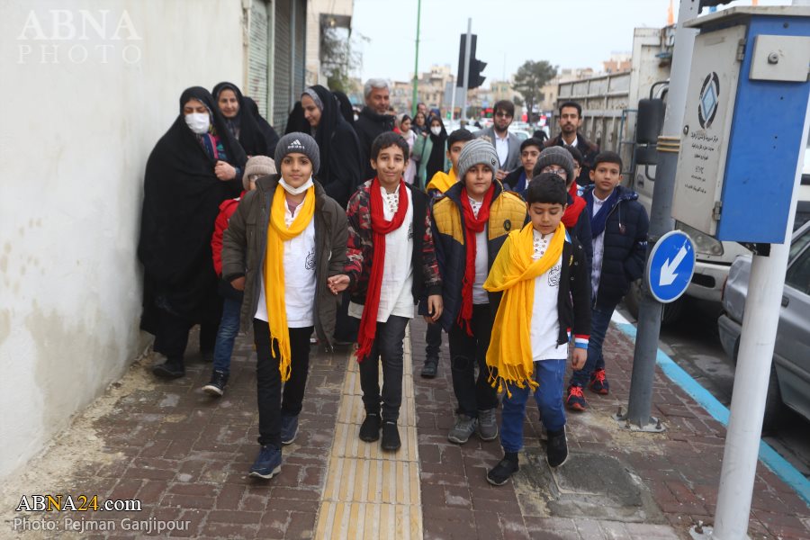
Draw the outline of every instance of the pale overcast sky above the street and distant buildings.
M677 20L679 0L673 4ZM599 70L612 52L630 52L634 28L665 26L669 5L670 0L422 0L419 73L434 64L449 64L455 73L468 17L478 34L476 56L487 62L485 85L513 75L526 60ZM353 31L369 40L362 45L358 75L410 80L416 24L417 0L355 0Z

